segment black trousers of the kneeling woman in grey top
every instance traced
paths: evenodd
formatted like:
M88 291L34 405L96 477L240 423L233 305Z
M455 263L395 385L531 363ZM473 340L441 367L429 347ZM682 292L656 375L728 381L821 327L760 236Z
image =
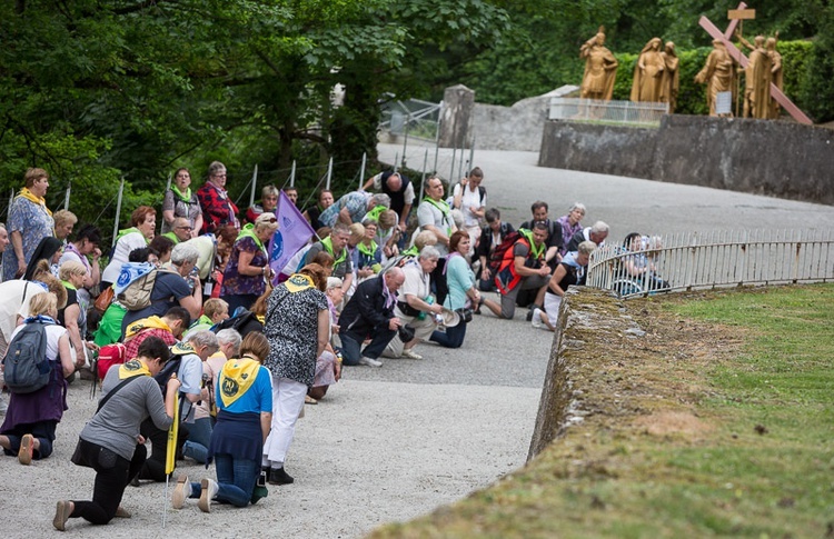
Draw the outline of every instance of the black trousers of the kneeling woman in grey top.
M96 483L91 501L72 500L75 509L70 518L82 518L93 525L106 525L116 515L125 488L139 473L148 450L145 446L137 445L133 458L128 460L106 447L81 440L81 452L85 460L96 470Z

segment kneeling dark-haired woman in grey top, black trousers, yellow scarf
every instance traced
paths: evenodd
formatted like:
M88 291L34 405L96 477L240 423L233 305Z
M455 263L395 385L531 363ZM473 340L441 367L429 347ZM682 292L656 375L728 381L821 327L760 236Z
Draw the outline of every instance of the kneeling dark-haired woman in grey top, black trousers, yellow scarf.
M52 520L56 529L64 531L70 518L106 525L116 516L129 516L120 507L121 499L147 456L145 440L137 435L139 426L150 420L157 429L167 431L173 422L173 400L180 382L168 381L163 401L152 378L169 358L165 342L151 338L142 342L136 359L108 371L101 386L107 400L100 401L85 425L78 445L81 458L96 470L92 500L59 501Z

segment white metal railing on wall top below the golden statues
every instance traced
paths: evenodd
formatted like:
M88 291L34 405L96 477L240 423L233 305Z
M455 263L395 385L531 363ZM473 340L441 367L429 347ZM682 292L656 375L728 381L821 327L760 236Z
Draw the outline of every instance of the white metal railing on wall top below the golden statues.
M599 101L595 99L552 98L550 120L593 123L659 126L667 103Z

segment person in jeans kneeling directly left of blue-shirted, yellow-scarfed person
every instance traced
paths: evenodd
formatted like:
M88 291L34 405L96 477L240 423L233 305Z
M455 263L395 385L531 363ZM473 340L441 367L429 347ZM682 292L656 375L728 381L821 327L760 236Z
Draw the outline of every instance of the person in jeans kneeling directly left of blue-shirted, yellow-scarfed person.
M195 335L195 333L191 333ZM211 442L211 430L217 420L217 395L215 385L220 370L229 358L240 355L240 333L234 329L217 332L217 343L220 350L212 353L202 362L202 389L200 402L195 407L193 423L188 427L188 439L182 445L182 456L205 465L208 459L208 448ZM186 337L189 342L189 337Z

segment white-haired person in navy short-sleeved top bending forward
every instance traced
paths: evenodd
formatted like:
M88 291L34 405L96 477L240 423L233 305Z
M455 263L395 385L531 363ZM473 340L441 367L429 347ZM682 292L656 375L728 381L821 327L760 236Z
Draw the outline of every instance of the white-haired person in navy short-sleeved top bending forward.
M177 243L171 251L171 261L159 269L150 292L150 305L145 309L128 311L121 321L121 331L137 320L161 317L171 307L180 306L191 316L200 318L202 310L202 286L197 276L197 259L200 252L190 242Z

